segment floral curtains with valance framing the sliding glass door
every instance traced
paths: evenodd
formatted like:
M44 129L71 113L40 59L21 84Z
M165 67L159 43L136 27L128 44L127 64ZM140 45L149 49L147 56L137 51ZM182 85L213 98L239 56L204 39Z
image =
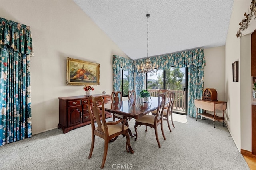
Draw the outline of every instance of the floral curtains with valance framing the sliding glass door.
M136 72L136 85L142 80L137 77L137 75L140 75L137 70L138 65L144 63L145 60L146 59L136 60L136 65L134 66ZM180 53L151 57L150 61L161 70L169 69L172 66L177 68L188 67L188 116L196 117L194 99L201 99L204 88L204 49L200 48ZM144 89L144 81L143 87L138 89L138 86L136 86L136 93L140 89Z

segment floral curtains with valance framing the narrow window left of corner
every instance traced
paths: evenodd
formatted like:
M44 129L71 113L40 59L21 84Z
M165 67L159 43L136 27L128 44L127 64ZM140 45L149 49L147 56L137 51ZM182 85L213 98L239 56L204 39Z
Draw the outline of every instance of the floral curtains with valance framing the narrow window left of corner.
M113 90L121 91L121 68L129 71L129 90L134 89L134 61L128 58L113 55Z

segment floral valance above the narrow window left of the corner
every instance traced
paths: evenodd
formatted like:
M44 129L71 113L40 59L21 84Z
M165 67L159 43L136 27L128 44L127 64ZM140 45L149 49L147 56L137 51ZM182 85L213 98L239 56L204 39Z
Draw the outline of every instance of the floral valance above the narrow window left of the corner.
M124 71L134 72L134 61L118 55L113 55L113 69L120 68L122 68Z

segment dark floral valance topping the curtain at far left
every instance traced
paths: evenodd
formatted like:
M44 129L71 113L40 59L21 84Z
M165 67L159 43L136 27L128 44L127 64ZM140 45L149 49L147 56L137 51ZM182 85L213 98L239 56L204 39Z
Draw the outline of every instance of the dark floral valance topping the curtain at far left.
M33 56L30 27L0 18L0 45L9 45L18 53Z

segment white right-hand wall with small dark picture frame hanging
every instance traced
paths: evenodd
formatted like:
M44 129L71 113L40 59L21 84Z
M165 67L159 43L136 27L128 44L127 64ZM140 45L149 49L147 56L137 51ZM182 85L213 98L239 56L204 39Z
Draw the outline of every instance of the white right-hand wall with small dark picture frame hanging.
M244 89L247 82L247 78L244 76L248 72L248 67L251 67L250 62L246 62L248 59L248 54L243 56L244 45L241 45L240 38L236 37L236 33L240 28L239 23L244 19L244 13L248 12L251 0L234 1L232 15L230 18L230 25L228 28L228 34L226 39L226 59L225 59L225 90L226 90L226 101L228 102L228 114L230 119L228 119L228 130L236 144L236 147L240 149L251 151L251 113L248 109L244 110L244 99L250 96L246 96L251 93L251 89ZM255 30L255 20L254 17L250 21L249 27L254 27L254 29L249 28L248 30ZM248 30L242 32L242 35L248 34ZM252 31L251 31L252 32ZM246 41L246 40L245 40ZM242 49L241 49L242 48ZM246 57L246 58L244 58ZM232 63L238 61L239 67L239 82L233 82L232 80ZM241 77L242 76L242 77ZM247 100L246 100L247 101ZM242 106L243 105L243 106ZM246 105L247 106L247 105ZM247 124L247 125L246 125ZM242 134L241 134L242 133Z

